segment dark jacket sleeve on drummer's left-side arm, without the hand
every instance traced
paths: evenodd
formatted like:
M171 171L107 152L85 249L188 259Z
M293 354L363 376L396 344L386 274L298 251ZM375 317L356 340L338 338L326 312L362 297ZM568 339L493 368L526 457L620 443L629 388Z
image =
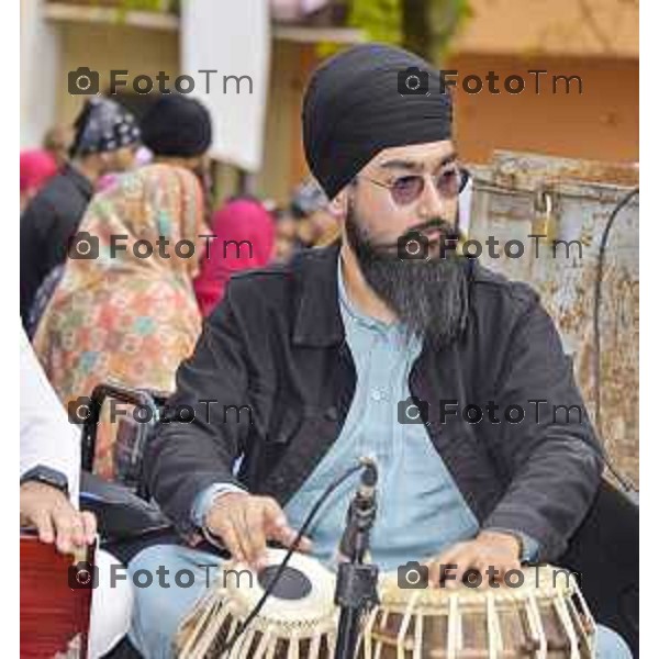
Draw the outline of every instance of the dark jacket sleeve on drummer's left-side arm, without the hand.
M248 404L248 367L231 291L230 284L204 323L193 355L179 367L176 393L144 456L150 493L186 534L196 530L200 495L216 484L239 487L233 466L248 420L224 410ZM194 411L191 423L181 421L188 407Z

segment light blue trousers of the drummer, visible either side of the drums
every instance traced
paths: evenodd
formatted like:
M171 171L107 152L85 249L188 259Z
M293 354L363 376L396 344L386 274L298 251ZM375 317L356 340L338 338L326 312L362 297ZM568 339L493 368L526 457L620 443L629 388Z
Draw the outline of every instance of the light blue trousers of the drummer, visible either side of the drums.
M178 545L149 547L131 561L129 572L134 584L134 605L129 636L145 659L174 657L172 643L177 629L213 583L219 565L215 554ZM161 566L169 573L160 579L157 570ZM136 582L145 588L136 585ZM632 652L621 636L602 625L597 625L595 656L596 659L632 659Z

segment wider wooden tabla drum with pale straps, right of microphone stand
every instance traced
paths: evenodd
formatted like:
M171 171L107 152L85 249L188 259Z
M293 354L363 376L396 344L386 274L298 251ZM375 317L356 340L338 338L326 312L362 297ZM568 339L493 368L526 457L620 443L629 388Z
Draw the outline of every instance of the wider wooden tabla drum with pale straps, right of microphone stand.
M595 624L576 574L529 567L511 572L509 583L491 588L484 576L480 589L403 589L398 574L384 574L380 604L362 628L360 659L594 656Z

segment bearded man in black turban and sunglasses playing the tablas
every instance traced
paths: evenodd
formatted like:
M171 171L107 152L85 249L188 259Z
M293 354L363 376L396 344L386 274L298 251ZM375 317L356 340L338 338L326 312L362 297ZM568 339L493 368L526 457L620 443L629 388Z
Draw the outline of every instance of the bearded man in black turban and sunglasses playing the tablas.
M527 286L458 256L465 174L439 91L425 62L381 45L313 75L304 149L342 245L234 278L181 365L144 467L189 544L219 541L260 569L266 541L290 546L362 456L379 468L371 560L399 581L410 561L428 566L432 585L456 563L450 588L469 568L501 579L556 559L591 505L593 429L549 412L581 405L551 320ZM445 414L455 403L492 406L498 422ZM334 566L355 485L334 490L299 550ZM145 656L172 652L217 562L181 546L134 558L135 574L164 565L199 577L194 589L136 589L131 638Z

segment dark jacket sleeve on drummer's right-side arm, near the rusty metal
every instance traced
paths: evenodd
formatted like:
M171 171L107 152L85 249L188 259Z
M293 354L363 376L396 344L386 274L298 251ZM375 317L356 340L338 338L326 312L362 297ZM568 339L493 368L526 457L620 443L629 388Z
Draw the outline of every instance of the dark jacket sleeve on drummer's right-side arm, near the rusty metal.
M524 420L502 421L492 446L512 481L483 528L525 534L540 559L556 558L595 495L602 457L571 360L537 299L511 336L495 396L502 411L520 405Z

